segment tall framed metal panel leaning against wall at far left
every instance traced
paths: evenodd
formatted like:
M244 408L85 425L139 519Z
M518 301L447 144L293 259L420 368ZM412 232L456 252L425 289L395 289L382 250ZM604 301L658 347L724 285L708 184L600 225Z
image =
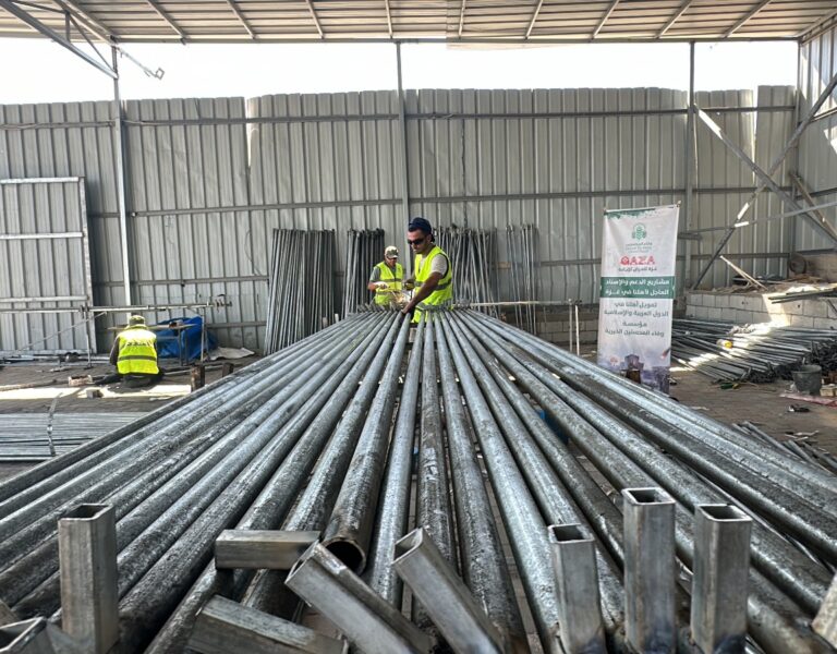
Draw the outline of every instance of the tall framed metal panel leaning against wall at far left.
M93 303L84 207L80 178L0 180L0 351L95 350L80 313L48 311Z

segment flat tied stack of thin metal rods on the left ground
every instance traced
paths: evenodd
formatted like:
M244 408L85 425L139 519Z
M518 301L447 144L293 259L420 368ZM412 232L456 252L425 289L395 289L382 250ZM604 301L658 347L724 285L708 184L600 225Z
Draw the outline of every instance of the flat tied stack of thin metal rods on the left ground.
M45 461L143 417L128 413L0 413L0 461Z

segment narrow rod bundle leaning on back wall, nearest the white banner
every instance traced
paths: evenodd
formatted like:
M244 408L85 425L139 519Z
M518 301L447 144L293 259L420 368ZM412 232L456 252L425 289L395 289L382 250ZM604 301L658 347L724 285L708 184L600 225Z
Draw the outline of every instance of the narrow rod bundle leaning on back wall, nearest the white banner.
M541 298L541 256L537 227L509 226L506 234L509 257L509 290L514 306L514 323L530 334L536 334L536 305Z

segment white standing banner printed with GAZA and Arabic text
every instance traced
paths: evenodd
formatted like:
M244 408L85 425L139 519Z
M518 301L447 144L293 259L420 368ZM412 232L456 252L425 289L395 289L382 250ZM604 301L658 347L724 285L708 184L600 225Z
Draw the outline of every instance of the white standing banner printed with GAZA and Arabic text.
M668 392L680 207L605 211L598 365Z

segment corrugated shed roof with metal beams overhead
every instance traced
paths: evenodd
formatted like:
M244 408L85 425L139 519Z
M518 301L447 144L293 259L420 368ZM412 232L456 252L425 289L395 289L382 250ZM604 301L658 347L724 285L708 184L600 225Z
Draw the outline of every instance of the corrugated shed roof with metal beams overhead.
M614 41L804 38L834 0L0 0L0 36L85 29L118 43Z

